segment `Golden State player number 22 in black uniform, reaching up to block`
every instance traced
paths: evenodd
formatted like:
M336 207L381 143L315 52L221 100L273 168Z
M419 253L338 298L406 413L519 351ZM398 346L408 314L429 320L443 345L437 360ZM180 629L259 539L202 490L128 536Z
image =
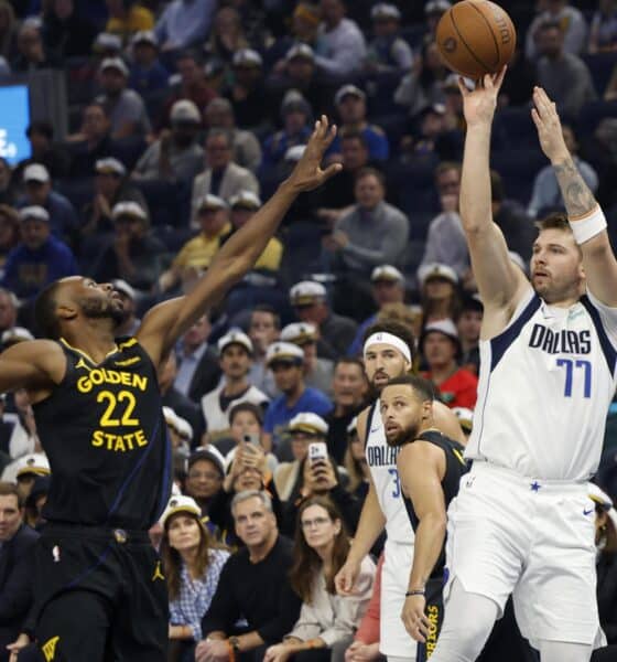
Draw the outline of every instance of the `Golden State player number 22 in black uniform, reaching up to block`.
M35 305L51 340L0 356L0 392L24 387L50 459L47 520L36 554L35 637L46 662L164 662L167 591L148 528L170 495L171 457L156 369L177 339L253 265L322 170L335 128L322 117L273 197L217 253L185 297L148 312L134 338L115 339L122 302L110 284L72 277Z

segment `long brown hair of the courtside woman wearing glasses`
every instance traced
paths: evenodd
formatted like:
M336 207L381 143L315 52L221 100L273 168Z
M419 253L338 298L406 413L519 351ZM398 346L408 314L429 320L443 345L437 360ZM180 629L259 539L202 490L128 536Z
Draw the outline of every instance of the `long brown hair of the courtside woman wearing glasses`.
M338 512L336 505L327 496L310 496L303 501L297 509L297 520L295 525L295 545L293 549L293 565L290 570L290 584L293 590L302 598L303 602L311 605L313 600L313 587L315 581L315 575L322 567L322 559L306 543L304 533L302 531L302 513L312 505L320 505L323 508L331 521L338 520L340 522L340 532L334 540L334 547L332 551L332 565L331 572L326 577L326 590L335 595L336 588L334 586L334 578L338 570L343 567L347 554L349 552L349 536L345 530L343 517Z

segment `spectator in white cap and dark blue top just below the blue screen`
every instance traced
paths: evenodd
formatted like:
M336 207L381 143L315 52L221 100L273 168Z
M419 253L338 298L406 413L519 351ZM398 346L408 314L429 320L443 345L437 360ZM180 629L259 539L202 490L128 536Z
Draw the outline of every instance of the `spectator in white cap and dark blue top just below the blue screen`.
M19 206L41 206L50 215L52 232L58 237L72 237L77 231L78 221L71 202L52 189L47 169L40 163L31 163L23 169L25 195Z

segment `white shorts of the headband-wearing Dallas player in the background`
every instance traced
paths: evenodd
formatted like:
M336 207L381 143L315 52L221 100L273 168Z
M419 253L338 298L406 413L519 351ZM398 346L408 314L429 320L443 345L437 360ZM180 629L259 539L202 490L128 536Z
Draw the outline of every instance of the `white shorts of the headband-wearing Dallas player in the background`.
M401 620L412 563L413 545L386 541L381 570L379 652L408 660L415 660L418 651L418 642L409 636Z

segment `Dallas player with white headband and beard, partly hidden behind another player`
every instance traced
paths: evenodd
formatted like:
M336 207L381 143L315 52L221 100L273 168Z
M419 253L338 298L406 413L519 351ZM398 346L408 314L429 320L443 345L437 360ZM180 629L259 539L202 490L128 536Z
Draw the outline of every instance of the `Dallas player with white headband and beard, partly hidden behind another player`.
M409 373L413 337L394 321L378 322L365 334L364 361L367 378L377 396L388 382ZM457 440L464 439L456 416L442 403L434 405L435 426ZM370 484L354 544L335 578L337 591L351 595L361 559L383 527L388 534L381 575L380 652L389 660L415 659L416 643L401 621L413 557L413 530L401 499L397 470L398 449L386 441L379 398L358 415L358 436L366 439Z

